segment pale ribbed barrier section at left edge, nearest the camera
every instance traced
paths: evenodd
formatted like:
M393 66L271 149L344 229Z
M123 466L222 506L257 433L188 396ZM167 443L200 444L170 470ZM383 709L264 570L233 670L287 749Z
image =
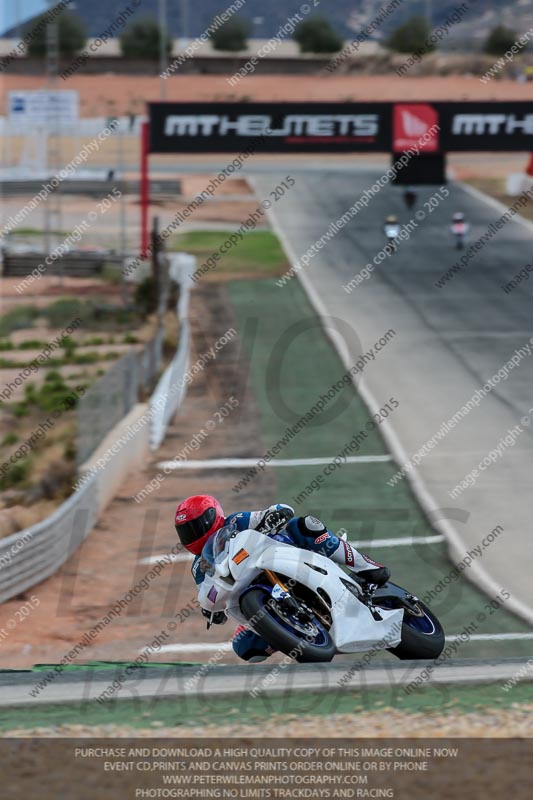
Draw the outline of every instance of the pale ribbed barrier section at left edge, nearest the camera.
M77 550L97 521L97 498L94 477L47 519L0 539L0 603L53 575Z

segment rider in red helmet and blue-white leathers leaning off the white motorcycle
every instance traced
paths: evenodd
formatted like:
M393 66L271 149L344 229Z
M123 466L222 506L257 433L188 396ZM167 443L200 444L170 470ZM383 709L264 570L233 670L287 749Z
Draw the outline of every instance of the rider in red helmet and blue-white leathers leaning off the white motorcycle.
M201 558L205 543L230 522L239 531L253 529L265 534L285 522L281 531L271 534L273 539L327 556L335 563L348 567L356 576L364 577L378 586L382 586L390 578L391 573L387 567L359 553L355 547L329 531L316 517L295 517L294 509L289 505L277 503L263 511L239 511L226 517L222 506L214 497L194 495L178 505L174 524L183 546L196 556L191 572L197 586L200 586L205 577ZM216 625L227 621L223 611L211 614L202 609L202 614ZM235 631L233 650L244 661L250 662L264 661L275 652L265 639L244 625L239 625Z

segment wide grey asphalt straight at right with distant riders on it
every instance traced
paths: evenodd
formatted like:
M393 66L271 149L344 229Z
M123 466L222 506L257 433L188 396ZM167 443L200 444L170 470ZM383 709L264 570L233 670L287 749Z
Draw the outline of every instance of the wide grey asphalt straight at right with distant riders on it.
M268 198L287 172L257 174L258 198ZM382 175L364 168L345 173L295 171L295 186L270 211L293 264ZM377 409L391 396L399 401L393 419L382 428L400 466L516 350L529 346L533 334L533 281L520 283L508 294L502 289L532 259L533 225L517 217L497 230L443 288L435 286L468 252L454 249L452 214L466 213L471 224L468 248L506 211L461 185L450 184L448 189L449 196L438 199L443 195L440 187L423 188L417 208L407 212L402 190L385 186L299 272L317 309L355 329L357 336L344 345L345 363L353 364L360 355L357 337L364 352L387 330L396 331L393 343L365 368L359 388ZM432 196L434 209L425 205ZM343 286L385 246L383 223L388 214L396 214L402 225L414 220L409 238L348 293ZM495 382L479 407L427 451L409 479L426 511L440 509L434 519L447 535L454 558L462 558L497 525L504 528L504 535L473 562L469 576L491 596L507 589L509 610L531 621L533 430L524 418L533 421L533 361L522 352L506 379ZM507 444L502 443L505 437ZM454 487L491 451L497 452L493 463L478 469L474 485L452 497Z

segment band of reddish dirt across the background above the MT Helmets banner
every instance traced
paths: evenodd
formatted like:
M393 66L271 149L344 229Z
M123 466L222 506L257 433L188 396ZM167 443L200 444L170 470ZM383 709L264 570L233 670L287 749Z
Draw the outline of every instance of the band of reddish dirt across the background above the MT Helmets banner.
M224 100L530 100L531 86L510 80L481 83L477 77L399 77L397 75L251 75L237 88L227 75L175 76L166 82L167 99L175 101ZM31 75L5 75L0 100L12 89L43 89L47 79ZM76 75L68 89L80 92L83 117L109 113L143 113L143 105L161 96L158 76Z

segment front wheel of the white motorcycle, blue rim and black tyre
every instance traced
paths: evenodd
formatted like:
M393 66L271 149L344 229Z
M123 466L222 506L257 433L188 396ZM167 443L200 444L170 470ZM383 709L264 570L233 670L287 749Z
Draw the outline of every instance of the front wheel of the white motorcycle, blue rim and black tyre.
M300 664L331 661L335 643L322 623L313 617L302 622L272 599L266 589L257 587L241 599L241 611L271 647Z

